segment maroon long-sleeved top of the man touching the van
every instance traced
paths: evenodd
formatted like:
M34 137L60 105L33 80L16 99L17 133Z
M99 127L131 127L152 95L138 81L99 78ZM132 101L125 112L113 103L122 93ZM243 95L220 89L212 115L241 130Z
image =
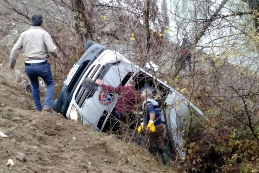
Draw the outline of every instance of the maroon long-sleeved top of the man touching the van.
M138 100L141 99L141 95L131 86L108 86L101 84L104 90L118 94L118 101L115 107L115 111L122 113L131 113L134 110Z

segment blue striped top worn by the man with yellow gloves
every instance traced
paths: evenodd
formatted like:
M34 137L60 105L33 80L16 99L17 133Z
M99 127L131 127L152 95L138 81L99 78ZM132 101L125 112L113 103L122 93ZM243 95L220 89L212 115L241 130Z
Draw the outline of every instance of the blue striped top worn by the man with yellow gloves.
M147 99L147 101L143 103L142 109L143 109L142 117L145 125L148 124L151 113L155 114L154 125L159 125L162 123L161 112L157 101L155 101L154 99Z

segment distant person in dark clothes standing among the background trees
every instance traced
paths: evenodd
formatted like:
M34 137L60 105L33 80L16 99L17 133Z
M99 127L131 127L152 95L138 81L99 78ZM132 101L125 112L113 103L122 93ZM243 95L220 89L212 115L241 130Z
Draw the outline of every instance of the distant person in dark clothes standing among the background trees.
M188 68L189 71L191 72L191 53L190 53L190 49L191 49L191 43L190 41L187 39L187 37L183 38L183 42L181 45L181 49L182 49L182 55L185 58L185 61L187 61L188 63ZM184 62L185 62L184 61Z

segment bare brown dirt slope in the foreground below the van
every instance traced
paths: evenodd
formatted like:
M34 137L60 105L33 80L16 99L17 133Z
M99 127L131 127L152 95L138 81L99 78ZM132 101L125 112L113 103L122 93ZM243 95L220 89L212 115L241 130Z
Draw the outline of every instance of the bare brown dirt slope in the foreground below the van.
M174 172L162 170L156 158L135 144L60 114L35 112L31 94L16 85L7 62L0 63L0 132L8 136L0 137L0 173ZM14 159L14 167L7 167L17 152L26 154L26 161Z

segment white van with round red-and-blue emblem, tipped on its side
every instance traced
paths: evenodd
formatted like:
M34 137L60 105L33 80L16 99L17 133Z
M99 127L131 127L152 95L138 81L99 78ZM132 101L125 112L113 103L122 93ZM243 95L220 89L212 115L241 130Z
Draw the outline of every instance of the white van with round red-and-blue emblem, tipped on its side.
M203 115L199 108L178 91L148 73L147 68L152 66L150 63L148 67L140 68L120 53L91 41L86 43L86 49L70 70L59 98L52 104L53 109L68 119L77 120L83 125L90 125L92 129L103 132L107 130L108 120L117 103L117 95L104 91L101 86L93 84L93 81L100 78L106 85L125 86L134 78L135 89L139 90L144 87L147 79L151 79L163 100L169 105L162 111L161 118L166 122L171 143L175 145L180 158L183 158L183 119L190 115L190 110L196 116ZM86 78L92 80L92 86L82 85Z

